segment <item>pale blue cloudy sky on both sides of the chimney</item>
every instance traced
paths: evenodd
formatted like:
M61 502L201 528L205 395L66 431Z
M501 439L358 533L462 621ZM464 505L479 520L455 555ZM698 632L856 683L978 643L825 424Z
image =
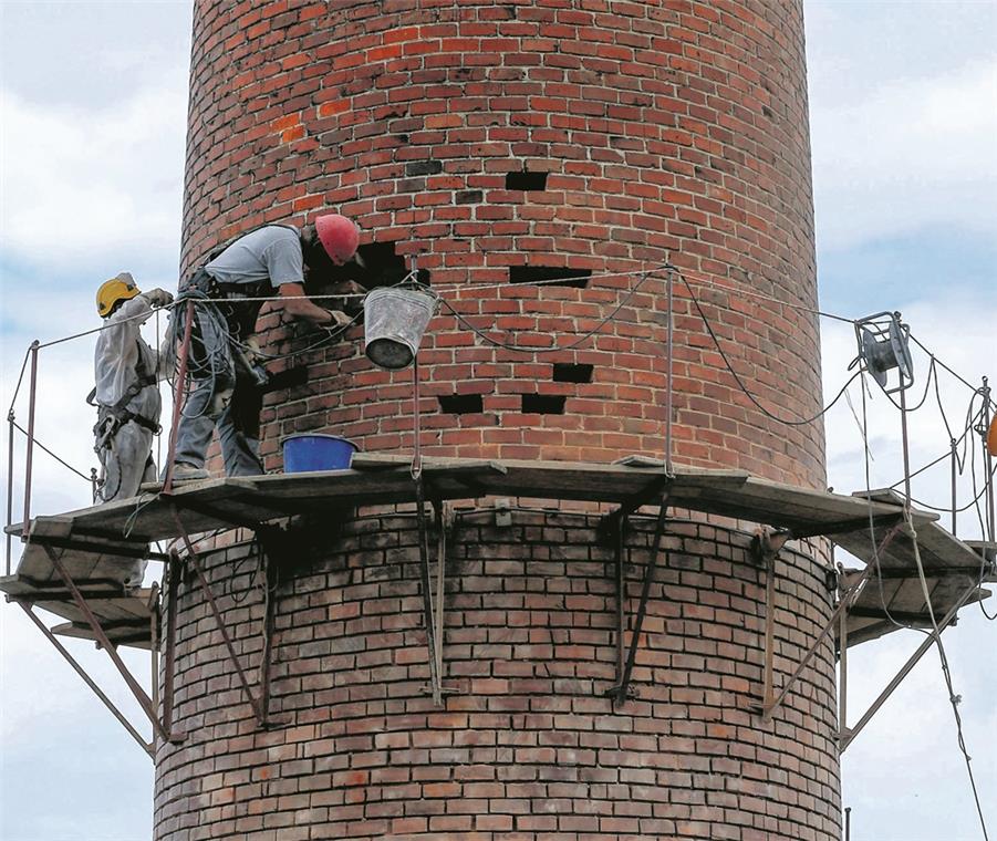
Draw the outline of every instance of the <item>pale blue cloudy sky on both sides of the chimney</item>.
M806 10L823 309L900 310L967 380L997 377L997 3L813 0ZM96 282L128 269L146 288L176 285L189 28L187 2L0 0L4 407L32 339L93 325ZM833 395L854 339L847 324L823 331ZM40 372L38 437L83 473L92 460L81 412L90 341L45 351ZM920 398L923 354L916 364ZM945 374L938 386L962 430L972 392ZM858 387L850 396L859 415ZM23 402L18 411L23 419ZM899 417L874 391L869 418L871 481L891 485L902 475ZM829 414L828 440L830 484L864 487L862 438L844 401ZM947 449L933 392L912 419L912 442L914 466ZM35 487L39 511L87 501L86 482L48 458L39 457ZM925 474L914 492L947 506L947 467ZM972 497L968 482L960 494ZM960 536L978 536L973 520L962 516ZM147 757L12 605L0 605L0 838L147 839ZM993 837L997 624L973 608L945 637ZM918 642L904 632L853 650L852 720ZM137 720L106 657L71 647ZM131 662L146 674L146 658ZM855 841L983 838L934 652L849 748L843 773Z

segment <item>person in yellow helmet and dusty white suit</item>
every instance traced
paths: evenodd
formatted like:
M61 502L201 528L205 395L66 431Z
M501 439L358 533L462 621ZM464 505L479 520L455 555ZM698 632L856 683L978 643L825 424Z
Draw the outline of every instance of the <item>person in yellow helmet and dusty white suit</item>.
M153 435L159 428L157 383L164 360L142 338L139 328L154 308L172 302L173 295L162 289L142 292L128 272L97 290L97 314L105 325L94 351L96 387L87 398L97 407L94 450L102 482L96 501L134 497L143 481L156 478L152 451Z

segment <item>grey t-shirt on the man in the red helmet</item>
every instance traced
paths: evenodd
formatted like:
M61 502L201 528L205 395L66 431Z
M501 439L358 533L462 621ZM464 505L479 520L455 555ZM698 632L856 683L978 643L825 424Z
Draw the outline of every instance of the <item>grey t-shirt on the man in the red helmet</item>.
M240 237L205 266L219 283L303 283L298 231L268 225Z

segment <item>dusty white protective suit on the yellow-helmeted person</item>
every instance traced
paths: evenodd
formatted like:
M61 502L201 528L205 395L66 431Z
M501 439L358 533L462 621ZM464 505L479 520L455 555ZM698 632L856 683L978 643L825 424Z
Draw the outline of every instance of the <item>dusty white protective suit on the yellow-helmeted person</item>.
M139 357L146 375L157 380L163 375L162 354L149 347L139 332L139 326L152 313L148 298L138 294L108 315L104 329L97 334L94 378L98 419L94 433L103 475L98 502L134 497L142 482L156 480L152 455L153 429L149 426L159 423L162 401L158 385L143 386L124 406L125 413L145 418L148 425L127 419L118 426L111 413L111 407L138 378ZM116 432L107 435L108 427L113 429L114 426L117 426Z

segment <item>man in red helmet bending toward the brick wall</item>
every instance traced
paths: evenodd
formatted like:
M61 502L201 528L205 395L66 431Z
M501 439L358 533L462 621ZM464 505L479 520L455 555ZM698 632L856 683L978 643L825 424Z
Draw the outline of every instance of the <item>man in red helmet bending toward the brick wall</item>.
M307 298L305 278L331 261L356 259L360 231L339 214L326 214L301 230L264 225L216 248L180 289L178 302L195 301L190 345L191 390L177 427L173 477L208 478L205 458L216 426L227 476L263 471L259 457L259 386L264 374L253 363L251 336L262 301L289 318L323 328L345 328L351 319ZM247 300L248 299L248 300ZM257 300L253 300L257 299ZM175 309L174 335L183 336L184 308ZM164 470L165 474L165 470Z

